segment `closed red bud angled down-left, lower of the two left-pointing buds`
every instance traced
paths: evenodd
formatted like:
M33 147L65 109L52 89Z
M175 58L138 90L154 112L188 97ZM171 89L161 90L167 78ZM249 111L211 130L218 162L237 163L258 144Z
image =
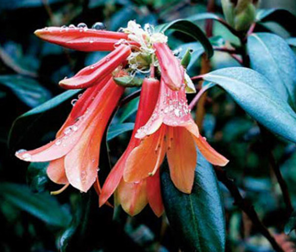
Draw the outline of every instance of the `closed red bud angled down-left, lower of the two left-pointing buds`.
M93 86L111 74L111 72L126 60L130 53L130 46L121 44L97 63L81 69L71 78L61 80L59 84L66 89Z

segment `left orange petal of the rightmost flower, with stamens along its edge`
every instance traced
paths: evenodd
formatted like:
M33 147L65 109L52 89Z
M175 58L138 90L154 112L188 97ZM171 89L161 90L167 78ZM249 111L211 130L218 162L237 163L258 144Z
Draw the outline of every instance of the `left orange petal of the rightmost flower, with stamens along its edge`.
M154 134L143 139L141 144L129 154L123 172L126 182L137 182L155 173L165 155L164 134L166 126L162 125Z

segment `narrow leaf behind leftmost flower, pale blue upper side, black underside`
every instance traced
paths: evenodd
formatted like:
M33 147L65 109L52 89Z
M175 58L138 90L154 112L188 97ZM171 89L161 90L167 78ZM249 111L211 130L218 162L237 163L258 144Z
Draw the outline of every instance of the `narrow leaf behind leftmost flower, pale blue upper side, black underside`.
M41 116L45 115L46 112L49 112L51 109L60 106L78 92L80 92L80 89L68 90L17 117L8 135L8 145L13 147L15 144L21 142L22 136L26 135Z

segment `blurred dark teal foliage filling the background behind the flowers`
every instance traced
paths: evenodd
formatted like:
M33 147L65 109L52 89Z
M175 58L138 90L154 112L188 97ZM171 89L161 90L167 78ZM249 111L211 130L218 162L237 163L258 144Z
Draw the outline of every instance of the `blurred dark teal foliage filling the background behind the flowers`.
M17 160L15 150L32 149L51 140L65 120L72 105L72 94L61 106L46 114L18 118L63 90L57 85L65 76L72 76L85 65L93 64L105 55L102 52L83 53L66 50L34 36L34 31L46 26L91 26L104 22L108 30L116 31L129 20L140 24L161 24L178 18L188 18L207 10L207 0L0 0L0 251L1 252L177 252L179 249L165 216L155 217L149 208L135 217L120 208L98 208L98 198L91 189L79 193L69 187L57 196L49 192L59 187L46 177L46 163L30 164ZM295 0L263 0L261 8L284 7L296 13ZM222 15L220 1L214 10ZM204 22L199 23L201 28ZM259 28L260 29L260 28ZM275 27L285 37L280 27ZM221 24L215 22L212 42L224 44L236 41ZM223 38L222 38L223 36ZM172 49L192 48L188 72L200 72L202 50L191 38L174 33L169 43ZM184 53L185 50L181 51ZM226 53L215 52L212 69L237 66ZM128 90L128 92L132 92ZM193 95L188 95L192 99ZM130 131L118 135L116 123L132 129L137 99L125 105L113 118L108 133L111 164L124 151ZM205 104L203 134L231 162L227 172L242 194L255 206L263 223L274 234L283 230L284 202L278 183L269 168L258 125L231 98L215 87ZM117 131L117 133L116 133ZM9 138L9 146L8 146ZM276 160L288 183L296 205L296 146L272 140ZM106 178L110 166L107 147L102 147L99 177ZM271 252L268 242L259 235L250 220L234 206L228 191L222 186L227 252ZM202 216L201 216L202 218ZM294 239L294 234L291 234Z

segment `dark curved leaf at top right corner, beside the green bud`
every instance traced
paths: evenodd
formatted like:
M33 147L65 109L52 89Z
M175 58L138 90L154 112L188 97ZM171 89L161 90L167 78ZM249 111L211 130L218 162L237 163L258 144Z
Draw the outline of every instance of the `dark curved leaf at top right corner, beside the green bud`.
M292 36L296 35L296 16L286 9L261 9L256 17L258 22L275 22L282 26Z

